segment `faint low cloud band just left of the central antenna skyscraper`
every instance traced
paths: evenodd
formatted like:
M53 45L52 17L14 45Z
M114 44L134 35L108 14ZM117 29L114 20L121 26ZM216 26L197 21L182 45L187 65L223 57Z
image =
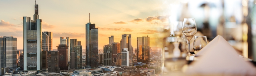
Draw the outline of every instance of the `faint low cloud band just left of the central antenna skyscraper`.
M53 33L53 37L59 38L59 37L70 37L70 38L83 38L85 37L85 33Z

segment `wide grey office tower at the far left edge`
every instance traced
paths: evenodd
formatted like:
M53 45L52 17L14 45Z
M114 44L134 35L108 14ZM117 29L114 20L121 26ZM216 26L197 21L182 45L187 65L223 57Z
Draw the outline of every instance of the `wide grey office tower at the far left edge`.
M17 38L0 37L0 67L17 68Z

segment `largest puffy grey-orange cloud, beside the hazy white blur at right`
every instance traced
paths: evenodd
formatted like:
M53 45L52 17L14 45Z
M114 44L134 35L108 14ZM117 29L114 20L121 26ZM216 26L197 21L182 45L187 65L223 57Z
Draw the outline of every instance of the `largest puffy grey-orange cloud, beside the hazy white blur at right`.
M160 20L161 22L165 22L168 20L169 16L157 16L157 17L147 17L145 20L151 22L153 20Z

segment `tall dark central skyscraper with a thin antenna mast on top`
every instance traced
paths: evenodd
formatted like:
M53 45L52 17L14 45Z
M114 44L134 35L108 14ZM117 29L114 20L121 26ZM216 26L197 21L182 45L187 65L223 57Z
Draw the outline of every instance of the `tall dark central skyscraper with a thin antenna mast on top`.
M90 13L89 13L90 16ZM98 68L98 28L95 24L86 24L86 65L92 68Z

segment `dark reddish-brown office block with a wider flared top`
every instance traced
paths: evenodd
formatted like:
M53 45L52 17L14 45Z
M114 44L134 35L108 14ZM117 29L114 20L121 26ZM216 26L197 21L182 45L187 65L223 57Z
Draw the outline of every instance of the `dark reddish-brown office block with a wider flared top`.
M60 70L68 70L68 46L67 45L59 45L59 67Z

